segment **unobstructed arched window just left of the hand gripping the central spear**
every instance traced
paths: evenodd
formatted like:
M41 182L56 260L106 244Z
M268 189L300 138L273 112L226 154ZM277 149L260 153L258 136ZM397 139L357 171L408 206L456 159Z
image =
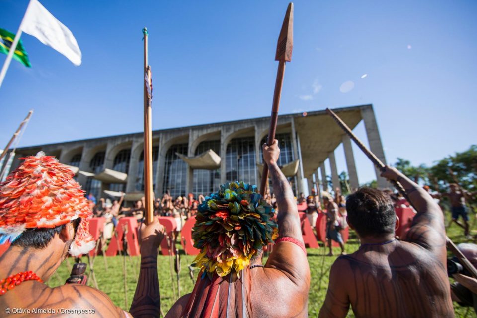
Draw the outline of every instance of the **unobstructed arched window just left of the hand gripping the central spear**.
M234 138L227 145L226 180L257 183L255 138Z

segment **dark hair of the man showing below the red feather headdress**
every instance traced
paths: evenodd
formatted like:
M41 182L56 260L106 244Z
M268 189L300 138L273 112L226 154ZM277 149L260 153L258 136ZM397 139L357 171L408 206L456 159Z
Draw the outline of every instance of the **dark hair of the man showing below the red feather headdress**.
M71 223L73 223L73 228L75 229L75 235L80 221L81 218L71 221ZM43 249L48 246L55 234L59 234L61 230L65 228L65 226L66 224L62 224L54 228L26 229L11 243L11 246Z

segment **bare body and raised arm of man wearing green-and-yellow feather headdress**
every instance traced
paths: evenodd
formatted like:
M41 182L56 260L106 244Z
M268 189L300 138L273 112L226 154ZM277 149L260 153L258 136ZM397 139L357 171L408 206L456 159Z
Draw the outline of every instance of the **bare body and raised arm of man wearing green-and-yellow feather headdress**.
M270 169L273 190L277 195L279 237L288 239L278 240L280 242L273 248L265 266L262 265L261 249L259 254L251 259L250 265L243 270L245 274L242 275L243 279L249 278L248 284L245 285L251 286L247 292L243 291L245 297L248 295L248 299L243 299L243 304L246 304L244 306L248 308L247 310L240 308L239 313L235 312L235 315L229 317L308 317L310 267L304 252L305 245L302 238L300 217L293 192L287 178L277 165L279 155L280 149L277 140L270 146L266 146L266 144L263 146L263 157ZM200 283L201 275L199 274L195 288ZM227 281L223 281L223 283L227 283ZM231 299L237 299L242 295L241 292L237 293L234 287L229 290L234 293ZM186 308L191 297L195 297L197 300L194 304L200 304L201 301L202 303L206 301L207 295L191 293L182 296L167 313L166 318L202 317L196 316L197 313L183 314L184 308ZM221 296L219 297L222 299ZM224 302L225 304L228 303L227 298L224 299ZM198 306L194 304L193 307ZM224 303L221 303L221 306L223 305ZM251 313L249 316L246 315L247 311ZM243 316L241 315L242 312L244 312ZM218 314L218 317L225 317L225 313Z

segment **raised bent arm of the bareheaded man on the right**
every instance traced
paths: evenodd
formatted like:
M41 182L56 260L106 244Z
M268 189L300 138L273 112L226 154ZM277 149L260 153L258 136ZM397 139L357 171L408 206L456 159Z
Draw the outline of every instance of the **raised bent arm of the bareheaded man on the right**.
M410 203L417 210L411 228L404 240L419 244L435 252L444 262L446 258L446 230L444 215L440 207L427 191L396 168L386 166L381 176L402 184Z

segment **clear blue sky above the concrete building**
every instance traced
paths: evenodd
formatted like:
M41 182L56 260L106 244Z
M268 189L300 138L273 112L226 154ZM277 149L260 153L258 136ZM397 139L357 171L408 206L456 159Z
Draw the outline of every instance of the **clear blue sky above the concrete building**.
M20 146L142 131L144 26L153 129L270 113L287 1L40 2L73 32L82 64L22 36L33 67L12 61L0 88L0 148L31 108ZM16 32L27 5L1 0L0 27ZM372 103L388 162L466 150L476 143L476 16L475 1L297 1L280 113ZM363 124L355 132L365 138ZM360 182L373 179L355 157Z

